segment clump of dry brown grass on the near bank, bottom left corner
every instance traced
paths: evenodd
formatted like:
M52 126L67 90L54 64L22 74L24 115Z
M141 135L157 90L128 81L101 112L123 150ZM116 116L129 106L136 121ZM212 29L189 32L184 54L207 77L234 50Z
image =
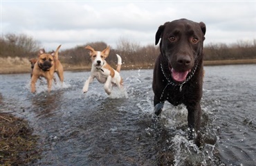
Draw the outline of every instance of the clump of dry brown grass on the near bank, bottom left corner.
M26 120L0 113L0 165L24 165L39 158L32 132Z

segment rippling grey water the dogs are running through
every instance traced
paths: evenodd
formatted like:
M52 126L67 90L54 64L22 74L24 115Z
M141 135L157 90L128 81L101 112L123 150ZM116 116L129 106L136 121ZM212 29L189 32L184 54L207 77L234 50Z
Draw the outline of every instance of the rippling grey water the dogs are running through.
M64 72L64 85L30 74L1 75L1 112L25 118L42 158L30 165L256 165L256 65L206 66L203 147L188 141L187 110L165 103L153 115L152 70L121 71L125 91L108 96L89 72Z

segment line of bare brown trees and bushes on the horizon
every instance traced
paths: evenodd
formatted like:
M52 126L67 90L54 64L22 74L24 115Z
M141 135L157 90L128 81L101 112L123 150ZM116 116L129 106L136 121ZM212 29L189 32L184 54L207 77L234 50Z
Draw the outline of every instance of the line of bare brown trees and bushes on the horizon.
M75 48L60 51L62 63L84 66L91 63L89 51L84 46L90 45L95 50L103 50L107 47L104 42L91 42ZM0 37L0 57L37 57L39 48L43 48L37 40L28 35L6 34ZM235 44L207 44L203 48L204 60L228 60L228 59L255 59L256 39L250 42L237 42ZM124 66L140 65L153 66L159 55L159 46L129 42L120 39L116 49L111 48L107 61L116 65L116 53L121 55Z

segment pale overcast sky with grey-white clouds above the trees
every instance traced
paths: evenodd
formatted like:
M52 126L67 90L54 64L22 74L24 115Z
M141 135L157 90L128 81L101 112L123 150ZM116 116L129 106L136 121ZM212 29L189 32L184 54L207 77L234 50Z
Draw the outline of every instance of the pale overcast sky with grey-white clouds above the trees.
M12 1L1 0L1 35L25 34L55 50L120 40L154 44L166 21L206 24L205 44L256 39L256 1Z

